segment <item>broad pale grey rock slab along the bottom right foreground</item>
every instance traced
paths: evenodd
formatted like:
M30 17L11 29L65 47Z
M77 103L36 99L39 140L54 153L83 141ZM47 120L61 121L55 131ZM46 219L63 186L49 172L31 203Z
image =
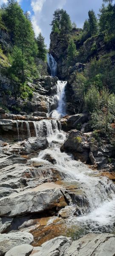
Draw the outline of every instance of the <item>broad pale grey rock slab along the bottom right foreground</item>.
M37 247L32 253L34 256L114 256L115 235L112 234L88 234L83 238L72 239L59 236L41 247Z

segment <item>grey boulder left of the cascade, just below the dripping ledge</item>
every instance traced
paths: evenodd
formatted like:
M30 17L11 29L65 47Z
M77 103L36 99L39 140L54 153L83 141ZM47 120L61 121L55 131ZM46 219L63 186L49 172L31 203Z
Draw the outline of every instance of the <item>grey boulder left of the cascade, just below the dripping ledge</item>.
M21 145L23 146L24 153L30 154L34 151L44 150L49 146L46 138L31 137L24 140Z

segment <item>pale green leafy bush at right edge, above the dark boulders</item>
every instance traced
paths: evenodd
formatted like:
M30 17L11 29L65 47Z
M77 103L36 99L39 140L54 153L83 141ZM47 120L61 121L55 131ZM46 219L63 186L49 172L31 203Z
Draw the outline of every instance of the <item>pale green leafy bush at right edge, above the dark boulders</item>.
M94 129L100 129L101 133L112 143L115 140L115 94L103 87L92 86L85 95L87 109L92 113L91 125Z

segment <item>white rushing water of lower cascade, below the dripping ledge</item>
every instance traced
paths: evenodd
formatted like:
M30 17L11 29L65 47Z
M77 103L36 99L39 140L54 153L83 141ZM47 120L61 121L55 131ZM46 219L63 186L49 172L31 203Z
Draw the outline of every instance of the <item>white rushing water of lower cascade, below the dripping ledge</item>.
M64 180L69 185L76 184L81 189L81 207L78 206L80 216L71 216L68 218L68 224L86 226L89 232L109 232L110 226L115 223L114 183L106 177L98 177L98 171L94 172L80 161L73 160L72 155L60 152L60 143L65 140L63 131L55 129L50 133L48 140L50 147L40 151L39 157L34 160L49 163L43 159L46 154L50 154L56 160L55 167ZM59 144L52 143L52 140ZM82 204L85 200L88 202L87 207Z

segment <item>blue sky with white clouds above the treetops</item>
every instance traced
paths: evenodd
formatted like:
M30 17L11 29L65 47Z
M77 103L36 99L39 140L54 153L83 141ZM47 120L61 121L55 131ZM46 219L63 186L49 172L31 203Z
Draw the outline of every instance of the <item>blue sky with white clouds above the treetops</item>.
M22 9L28 11L33 23L35 35L40 32L45 37L45 43L49 47L50 33L53 13L57 8L63 8L70 15L72 22L77 27L83 26L84 20L88 17L88 11L93 9L96 15L103 0L18 0ZM7 0L0 0L0 4L7 3Z

